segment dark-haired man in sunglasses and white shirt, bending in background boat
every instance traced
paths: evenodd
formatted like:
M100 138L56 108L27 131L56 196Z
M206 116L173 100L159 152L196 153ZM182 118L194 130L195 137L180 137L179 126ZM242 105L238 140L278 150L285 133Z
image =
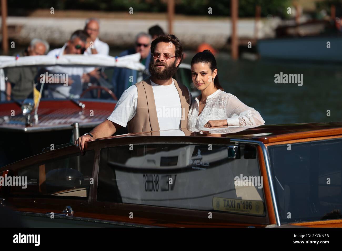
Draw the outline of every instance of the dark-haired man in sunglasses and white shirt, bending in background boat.
M69 41L62 48L50 51L47 55L63 57L66 54L83 54L87 50L89 35L84 30L76 30ZM46 67L50 74L68 74L68 83L49 83L49 97L52 98L78 98L82 93L83 82L88 82L89 75L96 74L93 67ZM66 85L67 84L67 85Z

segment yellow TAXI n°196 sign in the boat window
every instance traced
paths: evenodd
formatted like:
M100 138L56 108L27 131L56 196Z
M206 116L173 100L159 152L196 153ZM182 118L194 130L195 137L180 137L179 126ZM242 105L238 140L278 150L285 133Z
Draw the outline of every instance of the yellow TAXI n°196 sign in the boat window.
M213 197L213 209L232 213L262 215L264 213L264 203L261 200Z

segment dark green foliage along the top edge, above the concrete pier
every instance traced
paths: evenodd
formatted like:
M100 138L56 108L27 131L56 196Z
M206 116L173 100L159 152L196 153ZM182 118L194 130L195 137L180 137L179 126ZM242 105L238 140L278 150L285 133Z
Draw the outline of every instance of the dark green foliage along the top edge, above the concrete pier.
M208 15L212 8L212 16L230 16L231 0L175 0L175 12L184 15ZM255 6L261 6L261 15L283 16L291 6L290 0L239 0L239 16L254 17ZM136 12L166 12L167 0L16 0L8 1L10 15L19 10L34 9L55 10L98 10L98 11L128 11Z

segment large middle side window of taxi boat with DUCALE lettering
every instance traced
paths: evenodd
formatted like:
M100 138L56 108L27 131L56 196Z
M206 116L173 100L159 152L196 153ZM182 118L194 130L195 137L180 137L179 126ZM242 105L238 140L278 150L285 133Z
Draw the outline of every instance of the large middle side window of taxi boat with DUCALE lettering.
M144 144L104 148L98 201L265 215L256 147ZM235 158L234 158L235 156Z

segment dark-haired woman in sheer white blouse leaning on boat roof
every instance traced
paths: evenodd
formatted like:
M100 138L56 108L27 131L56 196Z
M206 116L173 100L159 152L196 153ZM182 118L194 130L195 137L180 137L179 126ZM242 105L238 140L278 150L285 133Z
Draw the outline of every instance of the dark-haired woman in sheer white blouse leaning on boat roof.
M214 55L209 50L197 53L191 61L192 80L201 95L189 110L187 127L263 125L265 121L254 108L224 92L219 83Z

